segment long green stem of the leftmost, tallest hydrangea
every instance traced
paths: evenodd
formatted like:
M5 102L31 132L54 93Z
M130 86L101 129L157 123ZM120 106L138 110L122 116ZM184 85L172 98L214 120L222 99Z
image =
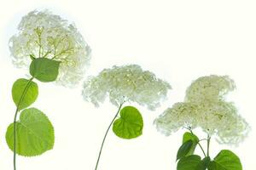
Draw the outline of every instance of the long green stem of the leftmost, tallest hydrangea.
M15 120L14 120L14 170L16 170L16 119L17 119L18 113L20 111L19 110L20 104L23 101L29 86L31 85L32 79L33 79L33 77L29 80L29 82L27 82L26 87L24 88L24 90L23 90L23 92L20 96L20 101L19 101L19 103L17 105L17 108L16 108L16 111L15 111Z

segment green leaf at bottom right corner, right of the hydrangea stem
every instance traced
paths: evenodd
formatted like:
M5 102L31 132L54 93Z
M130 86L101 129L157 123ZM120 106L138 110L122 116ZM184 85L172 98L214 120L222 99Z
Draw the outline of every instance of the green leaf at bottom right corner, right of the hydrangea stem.
M208 166L209 170L242 170L241 161L230 150L221 150L214 161Z

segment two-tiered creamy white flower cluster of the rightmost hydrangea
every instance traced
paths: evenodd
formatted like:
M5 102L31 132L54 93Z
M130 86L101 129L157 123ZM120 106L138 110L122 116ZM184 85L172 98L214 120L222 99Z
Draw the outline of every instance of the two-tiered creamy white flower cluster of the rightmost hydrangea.
M200 77L186 91L185 101L168 108L155 121L157 129L170 135L181 127L201 127L209 135L216 134L221 144L239 144L249 130L236 106L224 95L236 85L229 77Z

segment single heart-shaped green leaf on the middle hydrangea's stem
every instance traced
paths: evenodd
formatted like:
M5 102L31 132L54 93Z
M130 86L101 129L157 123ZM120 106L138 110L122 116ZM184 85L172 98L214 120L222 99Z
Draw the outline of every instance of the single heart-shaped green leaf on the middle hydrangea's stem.
M143 134L143 116L135 107L124 107L113 122L113 133L122 139L137 138Z

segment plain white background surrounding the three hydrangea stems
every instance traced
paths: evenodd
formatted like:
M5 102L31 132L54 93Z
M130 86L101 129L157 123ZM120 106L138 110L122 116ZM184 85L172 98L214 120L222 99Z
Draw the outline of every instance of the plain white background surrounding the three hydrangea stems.
M20 18L35 8L49 8L76 23L92 48L87 75L112 65L135 63L172 84L169 99L158 110L138 106L145 124L142 137L124 140L109 133L99 170L175 170L183 131L165 137L152 122L183 100L192 80L210 74L235 79L237 90L229 99L253 129L238 148L212 140L212 157L221 149L231 149L241 157L245 170L255 169L255 1L7 0L0 6L1 170L12 169L13 154L4 139L15 113L11 87L15 79L25 77L25 71L11 63L8 41ZM55 148L38 157L19 156L18 169L94 169L103 134L117 108L108 101L94 108L84 102L80 87L38 84L39 98L32 106L44 111L55 126Z

